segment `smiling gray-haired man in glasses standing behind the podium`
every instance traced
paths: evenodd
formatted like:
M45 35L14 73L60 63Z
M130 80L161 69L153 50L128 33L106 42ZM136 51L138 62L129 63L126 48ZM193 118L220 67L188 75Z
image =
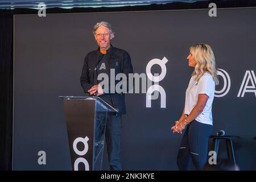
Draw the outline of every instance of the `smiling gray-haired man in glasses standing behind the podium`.
M110 79L115 79L110 77L110 69L113 69L115 76L118 73L124 73L128 78L129 73L133 73L133 66L129 53L123 49L113 47L110 43L114 38L114 31L108 22L96 23L93 27L93 35L98 44L98 49L89 52L85 56L80 82L85 93L90 94L90 96L101 97L109 105L118 109L118 113L108 113L105 136L110 170L122 170L121 128L122 114L126 113L125 94L104 93L103 90L105 89L102 90L97 77L100 73L105 73ZM114 83L117 84L115 80ZM110 86L108 87L110 88Z

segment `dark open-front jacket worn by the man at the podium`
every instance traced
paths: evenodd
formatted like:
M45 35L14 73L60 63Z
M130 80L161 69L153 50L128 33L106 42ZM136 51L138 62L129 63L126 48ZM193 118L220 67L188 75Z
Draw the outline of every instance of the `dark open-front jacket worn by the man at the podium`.
M115 76L118 73L125 73L128 78L129 73L133 73L133 65L131 65L131 58L129 53L127 53L123 49L115 48L111 46L107 50L108 56L108 76L110 81L110 69L115 69ZM94 69L97 67L98 61L102 56L100 52L100 48L96 51L89 52L85 56L84 66L82 67L82 74L80 77L81 86L84 89L85 93L88 93L88 90L93 86L96 85L97 82L95 80ZM115 84L118 81L115 81ZM127 81L128 82L128 81ZM128 87L127 87L128 88ZM108 93L107 93L108 94ZM114 108L118 109L118 114L125 114L125 94L124 93L109 93L112 104ZM103 95L102 95L103 96ZM102 97L100 96L100 97ZM109 102L108 102L109 103Z

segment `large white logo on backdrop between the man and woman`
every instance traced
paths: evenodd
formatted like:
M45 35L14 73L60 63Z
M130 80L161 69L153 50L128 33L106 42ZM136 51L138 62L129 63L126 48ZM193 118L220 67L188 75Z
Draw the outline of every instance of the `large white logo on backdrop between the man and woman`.
M146 107L151 107L151 100L157 99L157 98L152 98L152 93L154 91L158 91L161 95L161 108L166 108L166 91L164 91L163 87L156 84L159 81L163 80L163 78L166 76L166 63L168 62L168 60L166 59L166 57L164 57L162 60L160 59L152 59L148 62L147 67L146 67L146 74L147 77L154 82L154 85L151 85L150 88L147 89L147 93L146 93ZM162 72L159 76L153 76L151 73L151 67L155 64L158 64L161 69Z

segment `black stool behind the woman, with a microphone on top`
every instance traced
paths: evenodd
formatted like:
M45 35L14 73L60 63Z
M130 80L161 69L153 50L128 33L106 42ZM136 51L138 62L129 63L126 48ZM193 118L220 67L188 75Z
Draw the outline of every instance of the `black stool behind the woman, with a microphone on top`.
M226 140L226 149L228 151L228 158L229 158L229 162L231 164L236 164L236 158L234 156L234 148L233 148L233 143L232 143L232 139L236 139L236 138L240 138L238 136L230 136L230 135L211 135L210 138L213 139L212 142L212 151L216 152L216 155L218 155L218 144L220 142L221 139L225 139ZM217 156L216 156L217 157Z

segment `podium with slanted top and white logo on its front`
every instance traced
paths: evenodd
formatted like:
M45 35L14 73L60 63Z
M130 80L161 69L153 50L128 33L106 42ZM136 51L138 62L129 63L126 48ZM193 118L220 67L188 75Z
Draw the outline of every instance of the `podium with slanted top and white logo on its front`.
M59 96L64 101L69 151L75 171L100 171L105 144L106 119L117 112L100 97Z

